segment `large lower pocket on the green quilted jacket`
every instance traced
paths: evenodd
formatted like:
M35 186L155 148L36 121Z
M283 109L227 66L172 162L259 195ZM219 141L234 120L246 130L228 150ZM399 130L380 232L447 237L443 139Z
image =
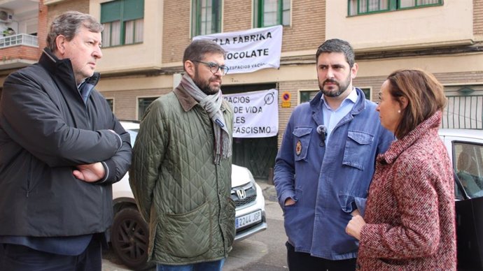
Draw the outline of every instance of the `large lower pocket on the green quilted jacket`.
M208 251L211 240L209 203L184 214L166 214L165 249L176 257L193 258Z

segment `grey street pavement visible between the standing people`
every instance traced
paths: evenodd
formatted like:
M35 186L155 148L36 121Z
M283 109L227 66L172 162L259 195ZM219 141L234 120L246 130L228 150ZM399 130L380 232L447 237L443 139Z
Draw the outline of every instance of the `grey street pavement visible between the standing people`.
M286 235L283 230L283 216L276 202L274 186L266 181L258 181L265 196L267 230L233 244L223 271L278 271L288 270L286 266ZM112 253L104 253L103 271L130 270ZM153 269L154 270L154 269Z

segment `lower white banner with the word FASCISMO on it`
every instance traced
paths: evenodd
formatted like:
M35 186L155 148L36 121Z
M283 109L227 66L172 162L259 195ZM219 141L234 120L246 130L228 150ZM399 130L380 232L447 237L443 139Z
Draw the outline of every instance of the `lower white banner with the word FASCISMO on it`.
M268 138L279 132L279 91L276 89L223 94L230 102L234 138Z

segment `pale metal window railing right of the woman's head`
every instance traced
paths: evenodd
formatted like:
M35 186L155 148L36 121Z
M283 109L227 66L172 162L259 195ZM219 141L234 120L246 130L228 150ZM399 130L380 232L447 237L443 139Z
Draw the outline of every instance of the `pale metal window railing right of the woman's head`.
M447 96L442 128L483 129L483 95Z

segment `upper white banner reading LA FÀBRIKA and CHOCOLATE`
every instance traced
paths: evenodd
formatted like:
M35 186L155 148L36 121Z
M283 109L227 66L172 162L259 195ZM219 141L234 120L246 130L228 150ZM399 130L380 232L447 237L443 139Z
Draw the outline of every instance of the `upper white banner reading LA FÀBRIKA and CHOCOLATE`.
M207 39L227 51L228 73L251 73L262 68L279 68L283 27L255 28L247 31L195 36Z

